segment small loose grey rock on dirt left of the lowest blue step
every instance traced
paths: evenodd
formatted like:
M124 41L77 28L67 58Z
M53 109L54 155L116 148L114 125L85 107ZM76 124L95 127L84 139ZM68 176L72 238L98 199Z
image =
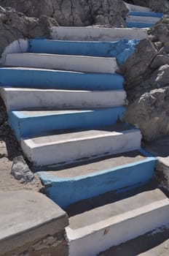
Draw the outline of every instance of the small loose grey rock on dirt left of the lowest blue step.
M13 159L11 174L17 180L25 182L31 182L34 179L34 174L29 169L28 165L23 159L23 156L15 157Z

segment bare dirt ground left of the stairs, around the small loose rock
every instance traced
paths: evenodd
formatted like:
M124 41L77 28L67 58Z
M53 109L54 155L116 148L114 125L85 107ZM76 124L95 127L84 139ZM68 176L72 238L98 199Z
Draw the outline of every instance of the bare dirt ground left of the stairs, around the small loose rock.
M23 152L17 143L15 136L7 122L7 111L0 98L0 190L12 191L18 189L30 189L40 191L42 183L35 173L34 181L26 183L17 181L11 175L12 160L22 155Z

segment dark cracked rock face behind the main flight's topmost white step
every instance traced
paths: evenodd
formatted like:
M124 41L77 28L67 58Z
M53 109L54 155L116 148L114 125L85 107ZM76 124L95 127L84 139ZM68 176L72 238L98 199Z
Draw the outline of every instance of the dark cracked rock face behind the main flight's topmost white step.
M128 12L122 0L0 0L0 5L28 17L47 15L60 26L125 26L123 18Z

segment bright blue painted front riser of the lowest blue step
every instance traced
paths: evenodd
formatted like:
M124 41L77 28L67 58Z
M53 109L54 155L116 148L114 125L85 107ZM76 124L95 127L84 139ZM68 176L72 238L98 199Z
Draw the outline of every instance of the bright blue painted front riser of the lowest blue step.
M139 187L153 177L154 165L154 157L147 157L140 162L102 170L90 176L57 178L57 174L55 176L47 172L38 174L42 183L47 185L47 196L65 209L71 203L105 192L122 188L132 189L133 186Z

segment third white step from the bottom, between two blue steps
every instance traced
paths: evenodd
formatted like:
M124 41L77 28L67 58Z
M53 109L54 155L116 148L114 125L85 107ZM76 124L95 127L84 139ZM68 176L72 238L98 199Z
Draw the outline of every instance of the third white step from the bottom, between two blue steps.
M125 105L124 90L71 91L1 88L7 110L25 108L106 108Z

